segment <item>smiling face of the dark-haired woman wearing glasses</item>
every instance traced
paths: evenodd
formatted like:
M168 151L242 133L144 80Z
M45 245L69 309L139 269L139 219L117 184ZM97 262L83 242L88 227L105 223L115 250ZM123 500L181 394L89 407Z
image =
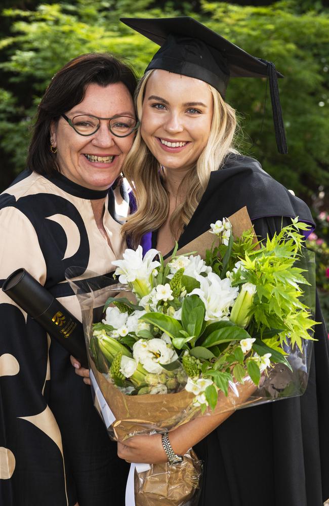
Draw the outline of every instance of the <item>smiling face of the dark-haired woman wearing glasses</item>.
M106 87L91 84L82 102L67 111L72 119L78 114L108 118L135 118L133 99L122 82ZM88 137L77 134L64 118L51 125L51 140L57 148L61 173L81 186L92 190L109 188L121 172L122 163L134 141L134 134L115 137L102 120L98 131Z

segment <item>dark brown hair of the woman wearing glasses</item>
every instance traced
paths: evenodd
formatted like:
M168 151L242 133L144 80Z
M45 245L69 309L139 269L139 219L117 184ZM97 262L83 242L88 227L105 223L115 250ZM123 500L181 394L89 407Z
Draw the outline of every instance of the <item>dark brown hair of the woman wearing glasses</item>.
M53 77L36 114L27 167L38 174L51 176L60 172L57 157L50 151L50 125L61 114L79 104L91 83L108 86L122 82L134 97L136 77L133 70L112 55L90 53L69 61Z

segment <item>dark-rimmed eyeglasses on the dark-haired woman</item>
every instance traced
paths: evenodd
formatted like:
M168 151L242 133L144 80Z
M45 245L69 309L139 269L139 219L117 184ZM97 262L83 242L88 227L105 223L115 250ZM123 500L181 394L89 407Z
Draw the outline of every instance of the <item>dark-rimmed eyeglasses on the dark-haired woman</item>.
M108 120L108 129L115 137L127 137L138 129L139 121L130 116L114 116L113 118L99 118L91 114L79 114L70 119L65 114L62 117L79 135L89 136L97 132L101 126L101 119Z

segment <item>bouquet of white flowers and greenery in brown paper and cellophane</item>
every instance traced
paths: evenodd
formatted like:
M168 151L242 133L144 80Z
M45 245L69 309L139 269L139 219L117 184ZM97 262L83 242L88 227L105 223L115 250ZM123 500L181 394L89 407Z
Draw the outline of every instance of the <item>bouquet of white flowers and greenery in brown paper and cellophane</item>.
M306 389L315 325L307 225L292 220L259 243L244 208L210 227L166 261L154 249L143 258L139 246L114 262L115 279L75 281L95 406L116 440ZM135 502L182 506L199 477L194 454L150 466L135 473Z

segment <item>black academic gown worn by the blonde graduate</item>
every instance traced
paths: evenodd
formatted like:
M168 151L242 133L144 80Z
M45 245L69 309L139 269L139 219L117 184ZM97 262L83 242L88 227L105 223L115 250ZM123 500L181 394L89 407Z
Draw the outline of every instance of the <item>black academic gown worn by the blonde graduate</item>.
M211 174L179 247L244 205L260 237L290 217L313 223L306 204L256 160L230 155ZM315 320L322 325L304 395L238 410L196 445L204 461L198 506L322 506L329 498L329 347L318 301Z

